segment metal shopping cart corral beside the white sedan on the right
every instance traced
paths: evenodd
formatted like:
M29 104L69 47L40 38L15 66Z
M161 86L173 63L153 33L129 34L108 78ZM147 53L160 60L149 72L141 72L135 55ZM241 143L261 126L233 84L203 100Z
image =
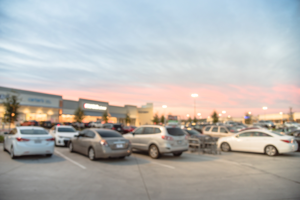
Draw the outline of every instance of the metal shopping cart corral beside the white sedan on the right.
M189 137L189 150L191 152L198 151L198 153L209 153L209 154L221 154L219 148L217 148L218 138L203 136L203 137Z

